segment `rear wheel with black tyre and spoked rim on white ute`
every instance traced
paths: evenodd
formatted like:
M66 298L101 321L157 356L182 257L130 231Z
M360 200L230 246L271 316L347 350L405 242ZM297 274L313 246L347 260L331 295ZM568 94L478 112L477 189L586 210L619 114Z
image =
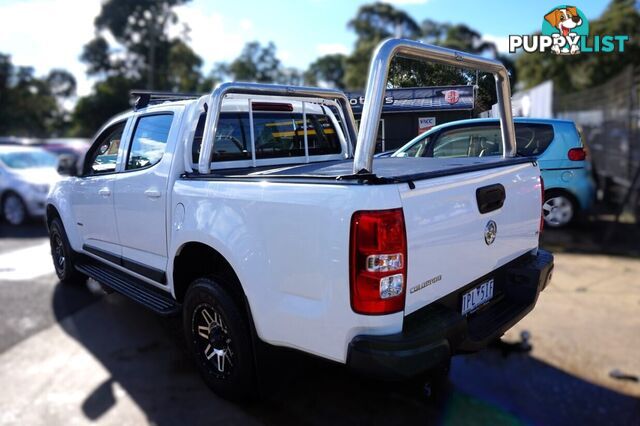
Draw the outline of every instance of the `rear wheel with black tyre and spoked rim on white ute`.
M195 280L184 301L187 346L207 385L219 396L255 396L251 332L244 312L224 290L225 278Z

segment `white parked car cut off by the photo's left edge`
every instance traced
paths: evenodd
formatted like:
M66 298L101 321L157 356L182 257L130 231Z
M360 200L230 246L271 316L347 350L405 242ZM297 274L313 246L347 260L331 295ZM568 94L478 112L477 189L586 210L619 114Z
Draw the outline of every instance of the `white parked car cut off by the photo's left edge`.
M11 225L43 217L47 193L61 176L58 159L40 148L0 146L0 202Z

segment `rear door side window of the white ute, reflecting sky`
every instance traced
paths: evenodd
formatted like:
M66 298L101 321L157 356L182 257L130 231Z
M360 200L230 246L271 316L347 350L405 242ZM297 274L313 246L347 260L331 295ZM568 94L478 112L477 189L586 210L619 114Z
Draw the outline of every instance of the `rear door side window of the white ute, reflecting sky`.
M127 170L142 169L157 164L164 154L173 114L140 117L127 156Z

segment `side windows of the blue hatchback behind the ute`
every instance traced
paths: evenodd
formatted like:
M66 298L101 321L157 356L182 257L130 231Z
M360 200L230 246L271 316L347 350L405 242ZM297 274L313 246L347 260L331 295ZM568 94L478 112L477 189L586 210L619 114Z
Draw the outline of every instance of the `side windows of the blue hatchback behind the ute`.
M542 154L554 138L553 126L515 123L518 155ZM489 157L502 155L500 126L474 126L444 131L432 148L434 157Z

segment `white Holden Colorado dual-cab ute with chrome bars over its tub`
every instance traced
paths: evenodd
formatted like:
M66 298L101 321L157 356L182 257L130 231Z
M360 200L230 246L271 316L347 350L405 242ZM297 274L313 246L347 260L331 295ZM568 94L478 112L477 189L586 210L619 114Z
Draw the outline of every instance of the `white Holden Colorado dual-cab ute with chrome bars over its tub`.
M495 75L505 153L373 159L395 55ZM227 83L138 93L50 192L62 282L91 277L181 314L217 393L252 393L266 342L388 379L420 377L535 305L542 182L515 156L501 63L407 40L374 54L359 132L336 90Z

